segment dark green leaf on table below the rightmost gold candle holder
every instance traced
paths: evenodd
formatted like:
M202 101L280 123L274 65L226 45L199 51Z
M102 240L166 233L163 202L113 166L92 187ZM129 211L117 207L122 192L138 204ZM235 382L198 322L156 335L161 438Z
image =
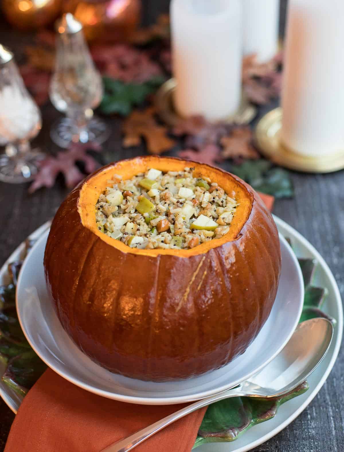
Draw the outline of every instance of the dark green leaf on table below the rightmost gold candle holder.
M287 170L274 167L269 160L245 160L241 165L231 165L231 172L262 193L275 198L292 198L294 189Z

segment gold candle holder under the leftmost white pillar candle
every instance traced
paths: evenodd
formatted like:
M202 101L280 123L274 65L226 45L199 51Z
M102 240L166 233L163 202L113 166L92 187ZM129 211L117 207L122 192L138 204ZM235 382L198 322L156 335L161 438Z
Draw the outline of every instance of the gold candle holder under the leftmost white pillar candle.
M183 117L174 108L173 94L177 86L177 81L172 78L167 80L156 93L156 110L160 118L169 126L175 126ZM243 93L238 111L227 116L224 121L239 125L248 124L257 114L257 108L250 104Z

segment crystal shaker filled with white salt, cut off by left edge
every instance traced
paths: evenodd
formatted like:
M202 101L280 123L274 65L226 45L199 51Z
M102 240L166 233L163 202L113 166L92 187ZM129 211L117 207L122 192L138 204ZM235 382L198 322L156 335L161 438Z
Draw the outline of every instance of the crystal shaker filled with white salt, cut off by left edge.
M18 184L31 180L42 157L30 142L41 130L41 115L24 86L11 52L0 44L0 180Z

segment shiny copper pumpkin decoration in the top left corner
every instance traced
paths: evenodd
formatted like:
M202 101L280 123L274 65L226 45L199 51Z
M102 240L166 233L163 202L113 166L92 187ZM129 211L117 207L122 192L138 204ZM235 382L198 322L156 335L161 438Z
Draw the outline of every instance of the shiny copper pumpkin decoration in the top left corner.
M61 12L61 0L2 0L4 14L23 31L50 24Z

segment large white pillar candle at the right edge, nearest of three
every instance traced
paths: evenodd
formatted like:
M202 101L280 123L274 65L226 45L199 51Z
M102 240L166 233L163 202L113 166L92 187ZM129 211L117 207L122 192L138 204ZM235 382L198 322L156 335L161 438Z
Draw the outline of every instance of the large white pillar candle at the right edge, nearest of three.
M289 0L281 141L294 152L344 149L343 42L343 0Z

